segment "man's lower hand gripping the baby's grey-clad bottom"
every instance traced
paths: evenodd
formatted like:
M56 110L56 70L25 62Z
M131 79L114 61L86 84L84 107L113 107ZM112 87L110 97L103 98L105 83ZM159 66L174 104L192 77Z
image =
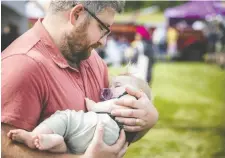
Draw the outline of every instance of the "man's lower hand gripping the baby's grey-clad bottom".
M127 150L128 143L125 142L125 133L123 130L120 132L120 137L117 142L109 146L103 141L104 125L98 123L94 138L87 148L83 158L121 158Z

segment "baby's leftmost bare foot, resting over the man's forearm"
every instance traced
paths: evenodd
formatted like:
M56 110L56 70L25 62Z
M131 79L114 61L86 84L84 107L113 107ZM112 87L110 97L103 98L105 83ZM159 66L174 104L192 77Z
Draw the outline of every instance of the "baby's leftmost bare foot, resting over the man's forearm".
M35 145L33 143L34 135L32 134L32 132L27 132L22 129L14 129L10 130L7 136L14 141L26 144L28 147L32 149L35 148Z

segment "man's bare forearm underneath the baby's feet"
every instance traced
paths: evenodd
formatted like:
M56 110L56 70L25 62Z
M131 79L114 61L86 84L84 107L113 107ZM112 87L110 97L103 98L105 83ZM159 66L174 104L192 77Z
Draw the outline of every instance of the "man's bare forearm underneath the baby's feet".
M2 157L5 158L80 158L79 155L73 154L59 154L50 153L38 150L32 150L23 144L15 143L7 137L9 130L13 129L12 126L1 124L1 138L2 138Z

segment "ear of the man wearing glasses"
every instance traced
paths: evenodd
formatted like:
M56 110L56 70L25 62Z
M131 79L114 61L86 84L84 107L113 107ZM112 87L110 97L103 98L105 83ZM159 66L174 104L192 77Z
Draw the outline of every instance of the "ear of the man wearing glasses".
M70 22L72 25L75 25L78 17L83 13L84 6L82 4L77 4L74 6L70 12Z

